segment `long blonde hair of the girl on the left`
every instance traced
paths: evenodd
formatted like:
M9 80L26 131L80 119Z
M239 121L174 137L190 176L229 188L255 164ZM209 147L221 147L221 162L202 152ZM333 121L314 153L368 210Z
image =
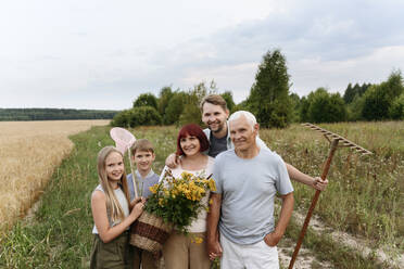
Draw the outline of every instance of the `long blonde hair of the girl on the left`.
M103 148L99 153L98 153L98 165L97 165L97 170L98 170L98 179L100 181L100 184L102 187L102 190L104 190L105 193L105 203L106 203L106 215L109 217L110 222L115 222L116 220L123 221L125 219L125 214L124 210L116 198L114 190L111 188L105 170L105 159L106 157L113 153L116 152L118 153L122 158L124 159L123 154L116 150L114 146L105 146ZM128 185L127 185L127 180L126 180L126 172L124 169L124 174L122 175L121 182L118 183L119 188L123 190L126 200L129 202L129 191L128 191Z

